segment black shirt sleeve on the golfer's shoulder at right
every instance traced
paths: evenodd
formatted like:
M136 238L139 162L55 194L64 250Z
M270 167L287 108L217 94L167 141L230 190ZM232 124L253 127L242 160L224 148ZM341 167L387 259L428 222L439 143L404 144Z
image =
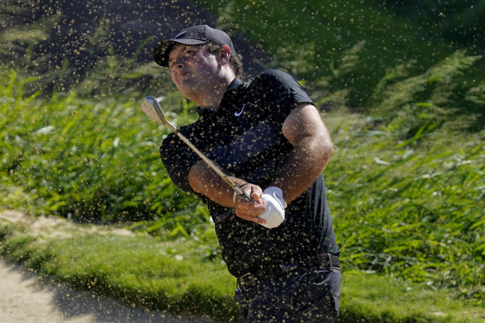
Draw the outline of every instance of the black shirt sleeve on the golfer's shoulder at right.
M312 99L300 83L287 73L267 70L259 78L262 100L270 119L275 124L282 124L298 104L313 104Z

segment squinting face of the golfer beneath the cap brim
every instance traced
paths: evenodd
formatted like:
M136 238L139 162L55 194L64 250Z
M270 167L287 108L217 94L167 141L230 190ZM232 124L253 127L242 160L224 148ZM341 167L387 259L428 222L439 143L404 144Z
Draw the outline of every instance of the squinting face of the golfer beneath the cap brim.
M178 90L192 100L211 95L208 91L214 89L220 71L215 55L206 46L180 43L170 50L168 67Z

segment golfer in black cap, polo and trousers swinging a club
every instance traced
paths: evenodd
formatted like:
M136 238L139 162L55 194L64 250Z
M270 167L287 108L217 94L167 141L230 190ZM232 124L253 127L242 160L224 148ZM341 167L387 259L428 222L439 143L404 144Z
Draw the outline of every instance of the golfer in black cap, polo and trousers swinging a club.
M175 134L163 141L173 183L209 208L237 278L239 322L332 322L340 308L340 249L322 172L333 146L308 94L277 70L241 81L230 37L207 25L157 43L153 56L199 105L199 119L180 132L252 197L235 194Z

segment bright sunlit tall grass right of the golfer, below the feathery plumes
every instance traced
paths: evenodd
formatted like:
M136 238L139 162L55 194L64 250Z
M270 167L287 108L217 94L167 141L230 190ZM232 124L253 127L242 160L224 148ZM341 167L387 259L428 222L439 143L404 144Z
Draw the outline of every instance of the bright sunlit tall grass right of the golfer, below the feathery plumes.
M336 123L325 174L344 263L482 299L483 134L448 129L402 147L372 122Z

